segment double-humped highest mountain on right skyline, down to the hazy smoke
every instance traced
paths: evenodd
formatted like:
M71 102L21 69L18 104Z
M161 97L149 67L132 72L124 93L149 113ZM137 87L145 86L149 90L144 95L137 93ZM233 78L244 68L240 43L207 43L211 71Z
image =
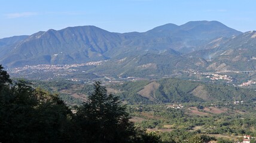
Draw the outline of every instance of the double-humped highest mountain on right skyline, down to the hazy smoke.
M230 38L242 32L231 29L218 21L190 21L181 26L165 24L145 33L157 36L158 39L169 38L171 42L165 42L169 48L188 53L201 49L212 39Z

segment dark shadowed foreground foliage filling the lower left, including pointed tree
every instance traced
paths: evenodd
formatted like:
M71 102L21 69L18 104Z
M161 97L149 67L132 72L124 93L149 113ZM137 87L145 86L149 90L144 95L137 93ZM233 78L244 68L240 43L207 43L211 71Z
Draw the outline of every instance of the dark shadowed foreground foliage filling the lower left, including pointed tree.
M126 106L95 83L77 114L55 94L11 81L0 65L0 142L160 142L135 128Z

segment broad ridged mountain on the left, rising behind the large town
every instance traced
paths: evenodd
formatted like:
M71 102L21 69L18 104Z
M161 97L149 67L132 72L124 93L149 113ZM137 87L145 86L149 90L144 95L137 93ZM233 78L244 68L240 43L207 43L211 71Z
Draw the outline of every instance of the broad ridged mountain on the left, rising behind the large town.
M105 60L104 52L120 44L120 36L95 26L68 27L35 33L12 47L3 60L24 64L71 64ZM16 57L16 58L14 58ZM32 62L34 61L34 62Z

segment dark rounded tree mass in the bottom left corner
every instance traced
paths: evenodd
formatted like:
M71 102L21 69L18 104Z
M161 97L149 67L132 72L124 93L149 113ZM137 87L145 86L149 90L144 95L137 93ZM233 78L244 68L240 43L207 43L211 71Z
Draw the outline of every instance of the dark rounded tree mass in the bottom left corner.
M33 89L25 80L4 87L0 142L75 142L72 113L57 95Z

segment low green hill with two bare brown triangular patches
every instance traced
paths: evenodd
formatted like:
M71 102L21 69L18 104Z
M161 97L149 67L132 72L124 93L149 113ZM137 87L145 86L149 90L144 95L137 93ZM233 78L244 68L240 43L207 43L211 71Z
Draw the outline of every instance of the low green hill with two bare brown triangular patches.
M111 88L122 100L138 102L255 101L254 90L179 79L126 82Z

